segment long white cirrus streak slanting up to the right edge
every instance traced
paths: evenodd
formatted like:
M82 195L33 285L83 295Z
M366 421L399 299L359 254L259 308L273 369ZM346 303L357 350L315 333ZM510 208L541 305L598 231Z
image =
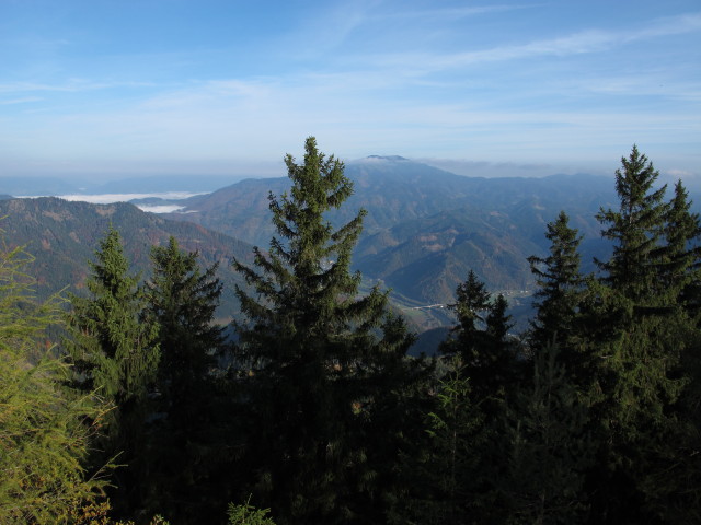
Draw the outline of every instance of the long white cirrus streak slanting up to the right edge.
M665 19L637 31L628 32L605 32L589 30L578 32L559 38L536 40L514 46L497 46L484 50L471 50L455 54L399 54L372 56L364 55L356 57L356 61L363 67L353 70L347 69L341 72L304 71L302 73L291 73L279 77L268 77L258 79L230 79L220 81L204 81L197 85L185 88L180 96L175 94L163 94L157 97L161 104L180 104L186 101L215 101L219 96L230 97L237 95L248 100L268 102L274 100L291 98L289 93L295 93L295 97L300 100L298 86L302 86L306 93L336 93L344 94L363 92L370 94L365 102L371 102L375 93L391 90L407 81L407 78L416 77L417 83L423 83L422 77L428 78L432 72L441 70L460 69L476 66L485 62L516 61L527 58L538 58L547 56L570 56L598 52L611 49L612 47L624 45L640 39L651 39L664 35L682 34L701 30L701 15L691 14L675 19ZM654 79L653 79L654 80ZM427 80L428 85L435 86L450 85L448 81ZM651 82L652 83L652 82ZM650 86L651 83L647 83ZM568 86L570 89L573 85ZM641 74L613 78L595 77L587 79L583 75L578 79L578 88L583 91L616 92L616 93L642 93L645 90L645 82L641 80ZM678 96L693 98L698 96L698 89L694 84L687 85L686 90L677 93ZM658 93L651 90L652 93ZM667 95L673 95L674 90L667 90ZM304 96L302 94L303 100ZM340 97L337 97L340 98ZM347 97L344 100L348 100ZM170 102L169 102L170 101ZM159 104L152 101L149 104Z

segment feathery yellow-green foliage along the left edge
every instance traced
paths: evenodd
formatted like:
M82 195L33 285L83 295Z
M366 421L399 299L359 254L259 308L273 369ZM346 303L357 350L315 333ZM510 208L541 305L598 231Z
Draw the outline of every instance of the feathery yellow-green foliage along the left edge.
M36 304L21 247L0 247L0 523L61 524L101 493L81 467L100 408L62 386L68 366L45 330L56 299Z

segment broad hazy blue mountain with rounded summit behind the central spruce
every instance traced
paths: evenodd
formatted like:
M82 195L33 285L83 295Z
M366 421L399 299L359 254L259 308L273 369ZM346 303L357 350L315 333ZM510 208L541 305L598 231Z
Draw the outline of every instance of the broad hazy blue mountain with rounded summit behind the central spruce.
M585 261L602 250L595 214L614 199L608 177L478 178L402 158L352 162L347 206L329 214L334 224L365 208L354 267L417 303L452 301L473 269L491 290L532 288L526 258L542 255L544 226L567 209L585 235ZM268 194L287 190L287 178L248 179L183 201L170 219L202 224L261 247L273 228ZM585 265L586 266L586 265Z

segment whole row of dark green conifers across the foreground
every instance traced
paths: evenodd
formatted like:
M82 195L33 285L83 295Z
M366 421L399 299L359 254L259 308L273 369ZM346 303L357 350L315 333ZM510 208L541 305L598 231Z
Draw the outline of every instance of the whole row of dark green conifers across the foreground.
M669 197L634 147L618 207L597 215L612 255L595 275L563 211L547 256L529 258L526 334L470 272L439 354L412 359L388 292L361 292L350 271L365 212L325 219L353 191L343 163L313 138L285 162L276 236L253 266L234 261L248 287L231 330L212 323L216 267L171 240L142 281L106 233L54 352L70 374L45 374L60 399L82 399L60 412L80 441L73 477L55 486L81 492L27 523L111 523L108 508L172 524L701 521L701 226L681 183ZM0 486L12 516L22 491Z

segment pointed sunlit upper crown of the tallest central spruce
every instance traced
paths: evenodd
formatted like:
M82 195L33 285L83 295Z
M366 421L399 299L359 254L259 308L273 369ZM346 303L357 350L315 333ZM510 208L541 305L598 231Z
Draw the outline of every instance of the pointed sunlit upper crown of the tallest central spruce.
M377 289L358 299L360 273L350 271L365 210L337 229L324 215L353 192L343 162L319 152L313 137L304 150L303 164L285 156L292 183L289 192L268 197L277 230L268 253L254 249L257 269L234 261L258 295L237 290L249 319L239 332L243 342L252 337L258 348L260 337L265 337L262 331L306 340L365 334L380 323L387 304L387 294Z

